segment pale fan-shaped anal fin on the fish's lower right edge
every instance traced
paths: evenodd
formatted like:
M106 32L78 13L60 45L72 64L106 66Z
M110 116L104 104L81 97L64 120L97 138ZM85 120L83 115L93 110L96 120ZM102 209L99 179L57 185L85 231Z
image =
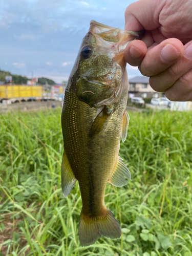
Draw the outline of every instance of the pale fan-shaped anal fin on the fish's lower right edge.
M131 173L126 165L122 162L122 158L119 157L115 171L109 182L116 187L122 187L127 184L124 177L131 180Z

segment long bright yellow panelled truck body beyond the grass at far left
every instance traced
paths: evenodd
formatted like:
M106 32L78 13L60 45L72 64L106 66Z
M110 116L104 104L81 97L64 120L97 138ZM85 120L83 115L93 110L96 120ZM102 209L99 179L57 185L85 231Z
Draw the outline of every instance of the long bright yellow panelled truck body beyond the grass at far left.
M0 100L2 99L10 99L12 103L21 100L41 100L42 86L0 85Z

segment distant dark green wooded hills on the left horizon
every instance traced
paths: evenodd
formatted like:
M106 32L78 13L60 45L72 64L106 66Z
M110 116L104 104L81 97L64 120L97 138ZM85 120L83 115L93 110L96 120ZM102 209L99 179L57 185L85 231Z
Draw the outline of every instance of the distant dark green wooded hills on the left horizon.
M0 81L2 82L6 82L5 77L6 76L12 76L12 83L14 84L22 84L22 83L27 83L28 80L30 80L28 77L26 76L21 76L21 75L14 75L11 74L9 71L4 71L0 69ZM40 77L38 78L38 83L39 84L55 84L55 81L48 79L46 77Z

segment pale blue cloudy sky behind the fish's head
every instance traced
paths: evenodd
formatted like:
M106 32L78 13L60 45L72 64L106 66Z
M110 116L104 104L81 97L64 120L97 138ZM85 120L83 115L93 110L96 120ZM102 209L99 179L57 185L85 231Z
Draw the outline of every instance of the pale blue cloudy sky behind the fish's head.
M67 80L91 19L124 28L134 0L1 0L0 69ZM127 66L129 77L140 75Z

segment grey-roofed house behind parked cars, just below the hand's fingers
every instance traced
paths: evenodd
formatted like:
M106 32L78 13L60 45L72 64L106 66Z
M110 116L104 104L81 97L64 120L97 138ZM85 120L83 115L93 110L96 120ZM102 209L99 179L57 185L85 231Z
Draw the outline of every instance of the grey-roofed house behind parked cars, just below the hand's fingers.
M129 97L158 98L159 93L154 91L149 83L149 77L136 76L129 79ZM162 93L161 93L161 96Z

